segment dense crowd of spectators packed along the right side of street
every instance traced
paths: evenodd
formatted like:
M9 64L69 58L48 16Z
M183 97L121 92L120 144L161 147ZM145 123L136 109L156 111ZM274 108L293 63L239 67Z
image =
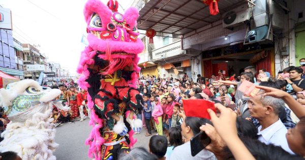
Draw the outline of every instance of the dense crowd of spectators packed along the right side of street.
M301 59L305 62L305 59ZM301 64L302 65L302 64ZM303 66L303 65L302 65ZM137 82L144 99L145 136L149 151L135 148L120 159L303 159L305 157L305 82L301 67L288 67L276 77L249 66L238 77L222 71L210 79L143 76ZM252 82L248 95L238 88ZM185 115L183 101L215 102L211 119ZM191 155L190 140L201 131L211 142ZM153 135L153 133L155 134ZM273 154L276 153L276 154Z

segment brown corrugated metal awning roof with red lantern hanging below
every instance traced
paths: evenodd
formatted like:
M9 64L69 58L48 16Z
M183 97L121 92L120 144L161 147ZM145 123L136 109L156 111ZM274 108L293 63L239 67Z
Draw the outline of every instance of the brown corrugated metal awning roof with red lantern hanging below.
M246 0L220 0L220 13L212 16L209 7L200 0L150 0L141 10L138 29L184 35L202 26L218 21L222 14Z

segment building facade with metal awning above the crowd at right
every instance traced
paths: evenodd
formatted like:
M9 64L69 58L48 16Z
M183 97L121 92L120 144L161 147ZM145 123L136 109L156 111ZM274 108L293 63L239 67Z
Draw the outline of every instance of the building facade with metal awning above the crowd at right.
M165 74L180 68L193 79L197 74L209 78L219 70L230 76L255 66L275 76L300 66L305 57L302 0L222 0L218 5L220 13L213 16L202 1L136 1L138 28L157 31L151 60L164 66ZM180 38L180 48L171 37Z

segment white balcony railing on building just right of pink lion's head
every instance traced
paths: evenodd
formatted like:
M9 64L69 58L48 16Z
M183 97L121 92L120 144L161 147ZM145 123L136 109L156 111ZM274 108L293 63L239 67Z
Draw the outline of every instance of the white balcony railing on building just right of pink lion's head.
M153 50L153 60L168 58L183 53L184 50L181 50L181 41L176 41L161 48Z

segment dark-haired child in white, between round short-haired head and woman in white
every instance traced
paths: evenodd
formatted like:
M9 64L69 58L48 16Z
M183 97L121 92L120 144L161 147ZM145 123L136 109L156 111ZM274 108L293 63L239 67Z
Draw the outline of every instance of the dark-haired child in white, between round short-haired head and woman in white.
M168 130L168 141L169 146L167 147L165 157L166 159L170 159L170 155L173 152L174 148L183 144L182 142L182 134L176 127L171 127Z

